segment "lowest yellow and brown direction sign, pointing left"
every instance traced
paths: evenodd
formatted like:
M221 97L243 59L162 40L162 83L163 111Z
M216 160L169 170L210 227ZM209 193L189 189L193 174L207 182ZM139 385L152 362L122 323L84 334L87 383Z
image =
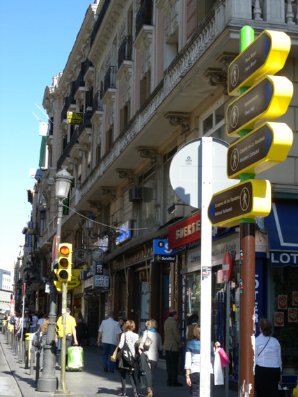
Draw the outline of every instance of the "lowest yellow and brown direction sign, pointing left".
M271 211L269 180L246 180L212 196L208 217L213 226L232 227L240 219L267 217Z

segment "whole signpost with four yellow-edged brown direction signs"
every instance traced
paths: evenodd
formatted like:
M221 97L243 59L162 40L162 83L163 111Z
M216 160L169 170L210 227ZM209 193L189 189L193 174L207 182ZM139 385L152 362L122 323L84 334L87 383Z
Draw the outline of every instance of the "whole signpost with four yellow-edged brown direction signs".
M240 97L226 114L228 136L241 139L228 148L228 178L240 184L212 196L208 217L213 226L240 224L243 263L240 266L240 381L239 396L254 394L251 339L254 336L255 228L258 217L271 210L271 185L254 180L257 173L283 162L292 146L292 131L272 123L285 114L293 94L290 80L274 76L285 65L290 37L280 31L263 31L253 40L253 29L240 32L240 53L228 69L228 93Z

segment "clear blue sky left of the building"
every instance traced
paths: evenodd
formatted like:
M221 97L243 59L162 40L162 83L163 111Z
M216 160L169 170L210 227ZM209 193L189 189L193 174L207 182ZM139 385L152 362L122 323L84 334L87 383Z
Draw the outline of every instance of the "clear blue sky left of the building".
M0 0L0 268L13 270L31 214L46 86L63 71L92 0ZM35 104L36 103L36 104Z

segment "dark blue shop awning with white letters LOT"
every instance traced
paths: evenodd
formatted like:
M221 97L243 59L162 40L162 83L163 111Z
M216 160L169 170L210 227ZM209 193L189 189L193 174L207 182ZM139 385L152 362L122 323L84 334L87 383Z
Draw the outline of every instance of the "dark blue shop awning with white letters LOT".
M298 205L272 203L265 218L272 266L298 266Z

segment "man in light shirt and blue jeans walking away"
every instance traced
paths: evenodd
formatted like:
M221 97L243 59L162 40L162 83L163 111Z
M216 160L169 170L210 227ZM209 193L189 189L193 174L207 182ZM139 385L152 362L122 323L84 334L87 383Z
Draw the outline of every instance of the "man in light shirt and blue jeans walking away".
M113 318L114 312L110 311L107 320L103 320L98 329L97 345L100 346L100 338L102 338L104 372L108 372L108 359L113 355L120 342L121 329L118 321L115 321ZM114 369L115 363L110 359L109 371L113 373Z

